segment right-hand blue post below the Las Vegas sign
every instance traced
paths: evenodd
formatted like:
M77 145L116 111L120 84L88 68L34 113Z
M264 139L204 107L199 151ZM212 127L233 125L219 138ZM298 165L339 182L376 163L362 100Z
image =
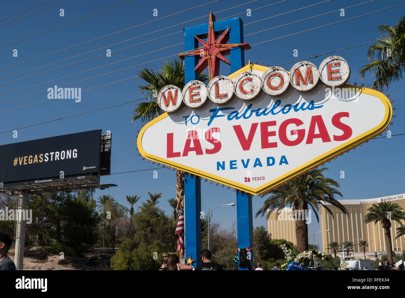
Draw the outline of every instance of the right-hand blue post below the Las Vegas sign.
M244 249L253 245L253 213L252 213L252 195L244 191L236 191L236 212L238 228L238 248ZM240 251L238 257L240 259ZM250 254L250 255L249 255ZM253 262L253 251L248 253L248 259ZM252 266L253 268L253 266ZM248 270L247 267L238 266L239 270Z

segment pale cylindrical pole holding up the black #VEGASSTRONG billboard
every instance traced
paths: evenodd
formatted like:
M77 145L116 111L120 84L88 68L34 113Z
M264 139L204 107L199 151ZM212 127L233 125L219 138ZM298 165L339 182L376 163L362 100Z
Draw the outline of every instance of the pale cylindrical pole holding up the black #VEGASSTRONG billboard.
M19 200L18 211L16 214L18 216L18 221L17 221L17 233L15 236L14 263L15 266L17 267L17 270L22 270L24 261L25 230L27 223L25 210L27 210L28 204L28 190L21 190L18 200ZM24 217L22 217L23 212Z

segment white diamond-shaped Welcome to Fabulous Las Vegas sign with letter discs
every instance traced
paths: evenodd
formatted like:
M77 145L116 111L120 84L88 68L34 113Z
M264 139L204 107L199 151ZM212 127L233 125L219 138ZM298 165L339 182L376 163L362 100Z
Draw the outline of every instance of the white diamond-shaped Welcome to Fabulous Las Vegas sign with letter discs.
M165 86L167 113L138 136L141 154L217 182L260 194L384 131L392 117L387 97L345 85L350 67L338 56L318 68L249 64L208 86Z

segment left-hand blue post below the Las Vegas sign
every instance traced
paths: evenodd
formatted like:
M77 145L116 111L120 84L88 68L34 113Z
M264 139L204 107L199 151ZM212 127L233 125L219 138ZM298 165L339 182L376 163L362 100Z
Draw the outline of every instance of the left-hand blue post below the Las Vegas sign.
M185 255L196 260L193 266L201 264L201 180L194 175L184 174L184 227Z

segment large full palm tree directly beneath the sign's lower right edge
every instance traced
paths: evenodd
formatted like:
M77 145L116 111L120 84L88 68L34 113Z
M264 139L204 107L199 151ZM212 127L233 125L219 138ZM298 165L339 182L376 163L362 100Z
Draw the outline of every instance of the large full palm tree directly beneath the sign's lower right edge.
M340 187L339 183L331 178L324 177L322 172L325 170L327 168L313 169L311 172L307 172L293 181L270 191L271 196L264 200L263 206L256 212L256 217L259 215L263 217L269 209L269 212L267 212L267 219L269 219L271 212L278 212L286 206L292 206L294 214L298 213L298 220L295 221L295 232L297 249L300 252L308 250L307 219L302 214L305 210L308 212L308 206L312 208L318 222L319 205L323 206L330 214L332 212L325 203L339 208L345 214L347 212L346 208L335 199L335 195L342 196L335 189L335 187ZM301 218L299 214L301 214Z

